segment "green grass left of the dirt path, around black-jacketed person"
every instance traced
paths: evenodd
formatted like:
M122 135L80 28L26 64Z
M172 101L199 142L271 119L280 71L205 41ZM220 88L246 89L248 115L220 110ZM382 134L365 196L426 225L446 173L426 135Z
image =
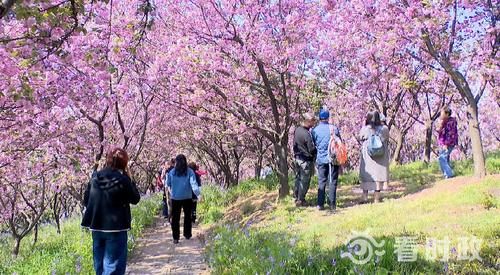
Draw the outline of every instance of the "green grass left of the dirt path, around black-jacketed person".
M161 196L153 196L132 207L129 251L144 228L153 223L160 200ZM42 227L34 246L33 236L23 239L17 258L11 256L12 240L0 240L0 274L92 274L92 237L80 222L80 217L64 221L61 234L54 226Z

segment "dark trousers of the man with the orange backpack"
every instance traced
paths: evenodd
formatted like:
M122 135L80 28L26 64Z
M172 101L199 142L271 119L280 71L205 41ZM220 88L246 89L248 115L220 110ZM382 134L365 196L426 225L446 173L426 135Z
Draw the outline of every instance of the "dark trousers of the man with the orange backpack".
M330 167L332 169L330 169ZM338 165L318 164L318 206L323 206L325 204L326 186L328 185L330 207L336 208L339 168L340 166Z

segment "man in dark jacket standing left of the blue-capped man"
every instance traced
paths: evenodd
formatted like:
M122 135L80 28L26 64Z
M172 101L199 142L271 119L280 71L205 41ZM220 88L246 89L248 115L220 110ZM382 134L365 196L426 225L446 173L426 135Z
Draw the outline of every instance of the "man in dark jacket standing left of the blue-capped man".
M316 147L310 129L314 127L314 115L304 114L302 124L295 129L293 138L293 154L295 157L295 205L306 205L306 194L309 190L311 176L314 171Z

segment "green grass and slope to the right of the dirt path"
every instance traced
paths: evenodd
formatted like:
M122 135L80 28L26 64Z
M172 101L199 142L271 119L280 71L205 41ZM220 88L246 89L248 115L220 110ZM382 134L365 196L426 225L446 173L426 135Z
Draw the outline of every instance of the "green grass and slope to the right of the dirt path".
M457 175L472 173L470 161L455 162L454 168ZM490 155L488 173L498 174L499 168L500 155ZM391 173L407 185L407 193L441 178L436 163L401 165L392 167ZM336 214L296 208L289 199L268 213L264 222L243 228L218 226L209 238L207 258L215 274L497 274L498 190L498 176L457 185L454 180L444 181L414 197L344 208ZM360 266L340 257L352 249L345 243L352 232L365 230L378 242L385 241L385 254ZM395 243L402 236L416 239L416 262L397 261ZM459 248L461 237L473 236L483 240L478 248L483 261L460 261L453 251ZM430 239L446 237L450 239L449 260L427 259Z

